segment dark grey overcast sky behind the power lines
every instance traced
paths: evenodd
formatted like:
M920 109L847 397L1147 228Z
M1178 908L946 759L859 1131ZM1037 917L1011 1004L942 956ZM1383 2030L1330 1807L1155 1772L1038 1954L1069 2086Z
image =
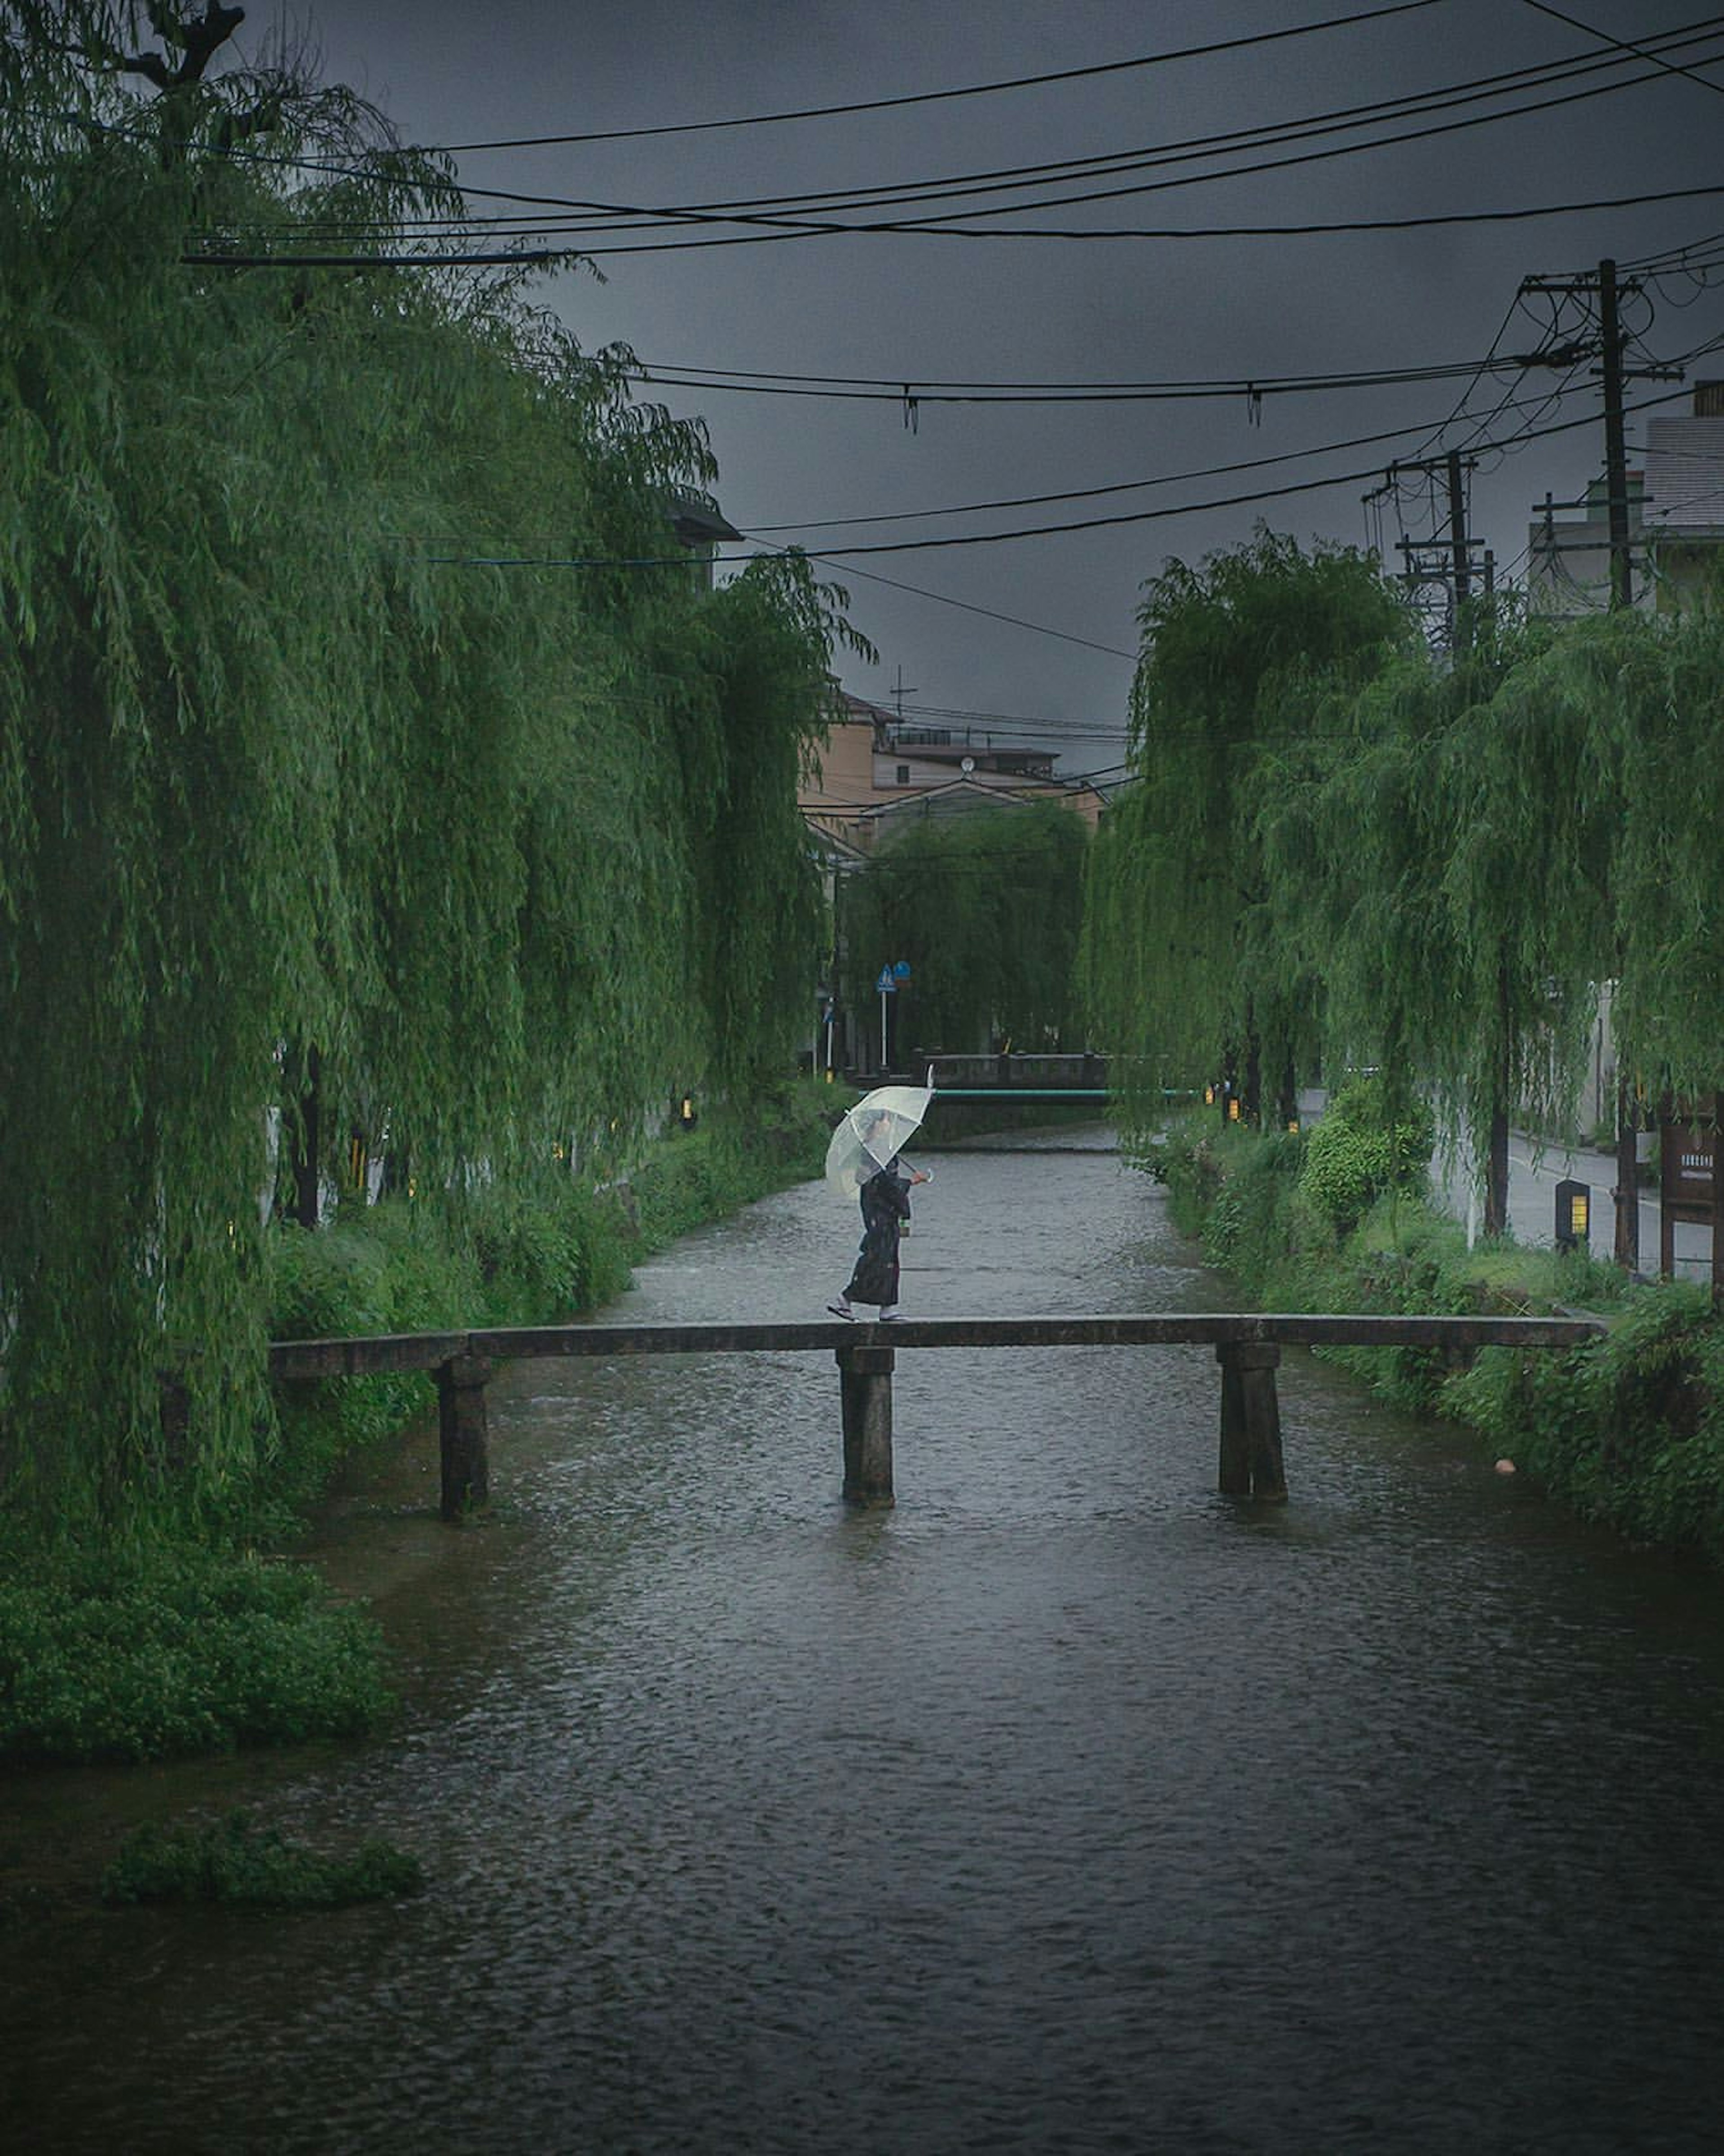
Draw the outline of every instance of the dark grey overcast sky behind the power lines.
M683 127L907 97L1317 24L1371 4L347 0L306 17L300 6L278 11L274 0L252 0L241 43L256 56L272 26L287 19L304 34L308 22L325 78L369 95L405 140L455 144ZM1707 19L1681 0L1560 4L1595 30L1638 43ZM655 207L806 194L1289 123L1603 50L1599 39L1528 0L1433 0L1379 22L1088 80L782 125L463 151L459 170L474 188ZM1711 52L1722 58L1707 67L1702 56ZM1677 58L1713 86L1659 73L1549 112L1039 218L1011 220L998 213L998 203L978 198L974 222L1295 224L1724 183L1724 37ZM1612 78L1588 78L1603 80ZM1431 119L1452 116L1459 114ZM614 254L601 263L603 282L562 274L543 295L584 347L625 341L646 362L685 369L888 382L1250 379L1476 360L1504 330L1526 274L1590 272L1605 254L1627 263L1718 231L1724 231L1724 194L1513 224L1278 239L838 235ZM1724 287L1664 280L1633 302L1627 319L1644 326L1649 351L1681 354L1724 330ZM1547 328L1547 306L1521 313L1502 347L1532 349ZM1698 371L1724 373L1724 356ZM1259 425L1243 395L1086 407L922 403L914 431L896 401L718 388L644 395L705 418L720 461L718 496L733 524L750 535L806 524L808 530L780 539L795 537L823 552L1121 515L1252 485L1351 474L1394 455L1463 446L1500 397L1524 399L1556 379L1552 373L1485 379L1470 392L1472 418L1448 433L1440 427L1468 392L1465 379L1267 397ZM1644 384L1633 395L1666 388ZM1595 418L1597 410L1597 384L1582 371L1560 407L1543 418ZM1511 412L1496 431L1504 423L1530 425L1534 416ZM899 526L836 530L821 522L1110 487L1394 427L1409 431L1375 448L1336 451L1263 474ZM1629 442L1638 440L1631 427ZM1593 423L1480 459L1472 474L1472 526L1504 569L1524 554L1530 505L1547 489L1558 500L1573 496L1599 457L1601 429ZM1121 752L1144 578L1168 556L1196 563L1246 539L1259 515L1306 543L1315 537L1362 543L1364 492L1364 481L1343 479L1261 509L1192 509L1062 537L834 558L830 573L851 593L851 619L879 649L879 666L847 660L845 683L890 703L901 681L905 707L1024 716L1045 740L1065 740L1062 772L1106 765ZM1392 502L1384 509L1390 550L1403 530L1420 537L1433 528L1431 507L1416 492L1399 509ZM914 584L918 593L894 584ZM998 614L1013 619L991 619Z

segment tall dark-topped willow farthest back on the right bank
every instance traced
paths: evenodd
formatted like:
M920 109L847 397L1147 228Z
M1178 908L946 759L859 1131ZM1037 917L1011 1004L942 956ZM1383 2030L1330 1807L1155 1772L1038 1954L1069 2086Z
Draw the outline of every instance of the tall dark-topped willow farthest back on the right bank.
M1401 597L1351 548L1259 530L1200 569L1172 561L1138 612L1134 785L1090 862L1084 983L1097 1033L1159 1108L1164 1084L1233 1074L1256 1110L1310 1048L1304 968L1274 923L1256 813L1289 746L1405 645Z

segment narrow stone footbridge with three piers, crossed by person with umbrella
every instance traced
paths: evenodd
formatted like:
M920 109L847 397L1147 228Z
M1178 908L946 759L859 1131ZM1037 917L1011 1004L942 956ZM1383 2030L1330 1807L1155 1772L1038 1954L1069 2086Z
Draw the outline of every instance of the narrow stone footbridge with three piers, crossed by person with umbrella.
M782 1354L825 1350L838 1363L845 1496L892 1503L892 1371L912 1348L1168 1348L1213 1345L1220 1363L1220 1488L1287 1501L1276 1367L1282 1348L1575 1348L1601 1317L1377 1317L1263 1311L1146 1311L1075 1317L907 1317L894 1324L502 1326L474 1332L386 1332L276 1341L280 1380L364 1378L427 1369L437 1378L442 1514L489 1496L485 1384L498 1363L614 1354Z

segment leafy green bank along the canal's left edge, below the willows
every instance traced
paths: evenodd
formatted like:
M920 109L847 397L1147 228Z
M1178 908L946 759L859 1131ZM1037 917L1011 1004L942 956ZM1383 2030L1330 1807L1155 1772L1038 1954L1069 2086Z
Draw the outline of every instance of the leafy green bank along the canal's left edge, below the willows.
M707 1117L625 1179L392 1199L272 1246L269 1335L545 1324L618 1294L703 1220L819 1173L849 1095L787 1087ZM332 1475L435 1401L425 1376L282 1386L259 1466L198 1514L131 1516L99 1546L13 1518L0 1535L0 1761L162 1759L379 1727L375 1626L293 1559Z

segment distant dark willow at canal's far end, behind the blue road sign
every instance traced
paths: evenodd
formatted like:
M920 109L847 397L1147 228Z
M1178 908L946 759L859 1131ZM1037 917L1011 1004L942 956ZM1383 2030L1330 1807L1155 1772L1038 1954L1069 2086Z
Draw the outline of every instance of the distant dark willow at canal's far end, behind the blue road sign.
M1088 826L1062 802L905 824L840 886L843 996L866 1009L881 964L905 959L914 1046L1067 1046L1086 852Z

